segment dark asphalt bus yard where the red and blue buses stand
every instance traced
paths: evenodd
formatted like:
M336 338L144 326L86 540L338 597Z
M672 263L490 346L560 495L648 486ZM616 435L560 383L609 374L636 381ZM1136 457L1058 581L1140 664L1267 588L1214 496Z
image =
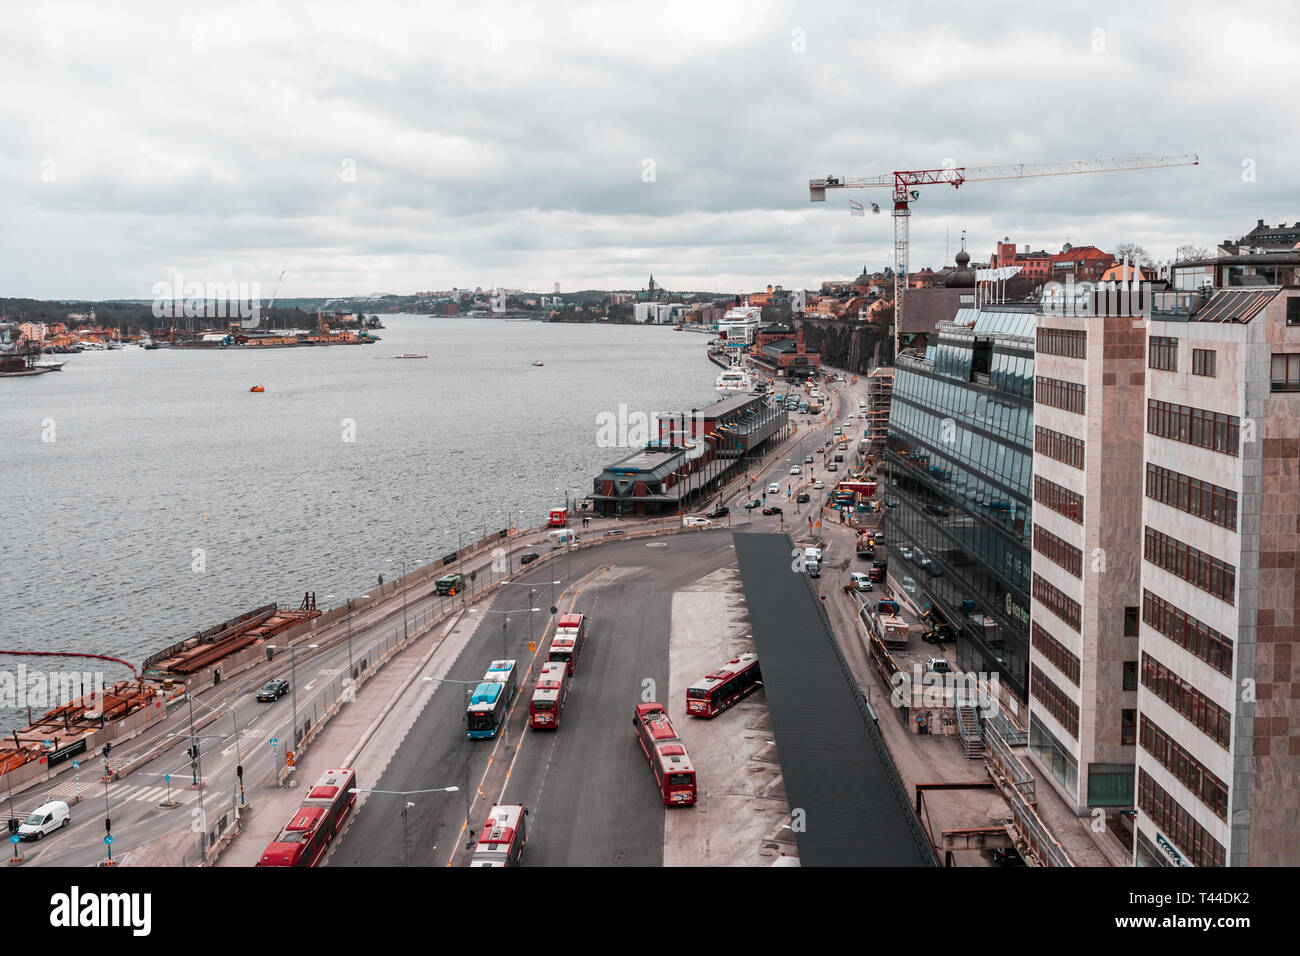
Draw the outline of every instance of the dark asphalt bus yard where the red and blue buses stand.
M528 865L659 866L668 810L633 737L632 711L642 700L642 682L654 680L656 695L667 693L672 592L734 561L731 535L715 529L633 540L572 558L575 578L604 564L612 568L597 574L573 602L573 610L592 615L592 623L559 730L523 731L536 669L520 689L508 747L504 741L468 740L460 719L464 688L445 683L416 718L381 779L365 786L412 791L465 787L468 779L473 793L488 774L491 784L485 786L482 797L474 795L471 826L477 830L493 804L528 806ZM536 580L550 580L550 571L540 570ZM517 593L498 597L495 605L510 601L521 606ZM485 617L448 679L476 680L500 657L499 617ZM542 622L534 623L540 631ZM511 615L510 656L521 663L526 641L526 615L517 620ZM510 775L502 783L504 766ZM411 799L416 804L407 817L412 866L441 866L452 858L456 865L467 862L463 793ZM360 805L329 865L402 865L402 860L400 806L372 796Z

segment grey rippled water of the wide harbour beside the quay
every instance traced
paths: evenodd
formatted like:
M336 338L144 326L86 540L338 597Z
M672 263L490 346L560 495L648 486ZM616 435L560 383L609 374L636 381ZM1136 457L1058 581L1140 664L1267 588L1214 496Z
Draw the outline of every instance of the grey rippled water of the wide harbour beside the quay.
M588 494L624 454L598 446L599 414L716 398L705 338L664 326L382 320L369 346L129 346L0 380L0 648L138 666L257 605L341 605L403 557Z

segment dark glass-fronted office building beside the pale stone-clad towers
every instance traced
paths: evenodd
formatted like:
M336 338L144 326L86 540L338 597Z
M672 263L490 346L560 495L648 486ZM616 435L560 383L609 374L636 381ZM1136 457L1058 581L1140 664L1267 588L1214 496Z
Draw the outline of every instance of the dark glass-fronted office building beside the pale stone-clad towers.
M894 372L885 453L890 575L956 633L961 670L1027 700L1037 307L961 308ZM905 561L900 548L911 548Z

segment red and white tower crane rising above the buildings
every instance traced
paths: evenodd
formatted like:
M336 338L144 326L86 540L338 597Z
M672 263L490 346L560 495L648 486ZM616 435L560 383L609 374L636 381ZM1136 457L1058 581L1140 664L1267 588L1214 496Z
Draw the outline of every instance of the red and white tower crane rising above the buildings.
M809 179L809 202L824 203L828 189L889 189L893 187L894 217L894 360L902 341L902 302L907 289L907 221L911 203L920 199L916 186L945 185L961 189L963 182L991 179L1028 179L1044 176L1078 176L1080 173L1123 173L1131 169L1160 169L1165 166L1195 166L1195 152L1180 156L1134 156L1131 159L1078 160L1074 163L1013 163L1002 166L952 166L944 169L896 169L884 176L844 178L828 176ZM872 212L880 212L876 203Z

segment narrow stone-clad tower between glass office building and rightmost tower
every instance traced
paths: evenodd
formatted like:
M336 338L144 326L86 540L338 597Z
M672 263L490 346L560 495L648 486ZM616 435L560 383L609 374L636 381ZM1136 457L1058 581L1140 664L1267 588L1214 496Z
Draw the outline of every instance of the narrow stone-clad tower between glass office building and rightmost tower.
M1028 748L1080 816L1134 805L1145 308L1036 316Z

